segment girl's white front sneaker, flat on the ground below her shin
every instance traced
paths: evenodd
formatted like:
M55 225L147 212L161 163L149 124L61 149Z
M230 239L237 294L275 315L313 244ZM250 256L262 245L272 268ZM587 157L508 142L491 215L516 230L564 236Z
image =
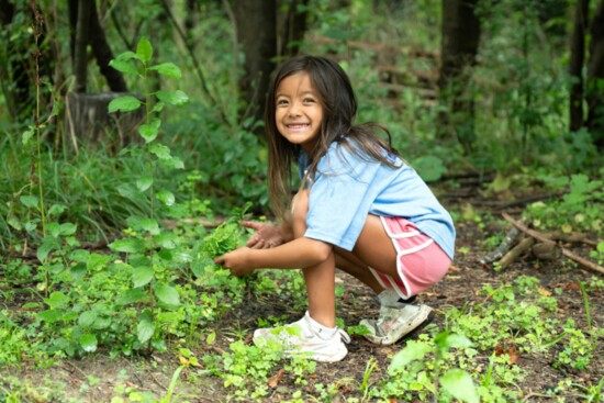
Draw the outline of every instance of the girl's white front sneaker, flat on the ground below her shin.
M350 343L350 336L342 329L335 333L313 326L309 312L300 321L284 326L259 328L254 332L254 344L265 347L277 343L283 347L286 356L307 354L309 358L322 362L340 361L348 354L343 342Z

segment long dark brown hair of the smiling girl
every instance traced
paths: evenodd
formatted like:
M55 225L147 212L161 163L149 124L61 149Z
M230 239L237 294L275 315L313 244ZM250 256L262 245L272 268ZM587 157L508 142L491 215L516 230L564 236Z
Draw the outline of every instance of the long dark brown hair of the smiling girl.
M291 144L279 133L276 123L275 96L281 81L298 72L309 75L320 98L318 102L323 107L320 138L309 155L312 161L307 172L309 178L314 177L318 160L327 153L333 142L343 144L362 158L379 160L391 167L396 165L394 160L388 158L387 153L399 155L391 145L390 132L381 124L369 122L354 125L357 98L350 79L337 63L320 56L298 56L283 63L271 76L265 114L269 146L269 198L273 212L281 220L287 216L291 202L292 164L298 160L300 146ZM376 135L376 130L383 131L388 139ZM349 139L355 139L358 146L354 146Z

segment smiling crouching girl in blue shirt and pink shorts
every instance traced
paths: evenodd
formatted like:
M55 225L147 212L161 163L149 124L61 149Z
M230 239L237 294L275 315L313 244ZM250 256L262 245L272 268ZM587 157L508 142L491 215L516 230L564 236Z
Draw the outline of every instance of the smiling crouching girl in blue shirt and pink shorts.
M378 294L380 317L361 321L366 337L395 343L428 318L430 307L411 302L450 266L450 215L383 126L353 123L357 101L338 64L313 56L284 63L272 76L266 110L270 201L281 224L244 223L256 233L215 261L236 276L301 268L309 309L295 323L257 329L255 344L342 360L350 338L335 323L336 267ZM302 186L291 200L294 161Z

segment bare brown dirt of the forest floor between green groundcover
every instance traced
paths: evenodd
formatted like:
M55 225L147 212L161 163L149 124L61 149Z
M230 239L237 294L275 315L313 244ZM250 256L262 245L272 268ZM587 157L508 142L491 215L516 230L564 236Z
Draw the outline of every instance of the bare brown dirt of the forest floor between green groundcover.
M519 210L510 211L516 214ZM517 216L517 214L516 214ZM482 240L485 231L490 234L507 231L501 224L494 224L488 228L479 228L476 223L460 223L457 225L458 239L457 253L454 268L446 278L436 287L420 295L422 303L435 309L434 324L444 328L444 311L455 306L471 306L474 303L484 302L484 294L479 291L485 284L497 287L502 283L511 283L518 276L532 276L541 281L541 289L545 292L557 293L558 314L562 318L572 317L578 322L579 328L586 327L586 310L579 283L590 281L594 276L601 276L569 264L568 259L561 258L556 261L543 262L533 259L521 258L504 270L494 271L485 268L480 259L489 251L484 250ZM588 249L580 245L569 246L573 251L588 256ZM356 325L362 317L377 317L378 304L372 292L354 278L338 272L337 281L344 286L344 294L338 298L338 316L349 325ZM604 323L602 310L602 288L590 294L591 320L593 326L597 327ZM234 340L233 331L238 329L245 334L249 342L250 335L257 327L259 317L287 316L297 321L303 312L294 310L283 295L277 294L273 298L265 298L261 301L250 299L242 309L230 310L216 328L216 338L211 349L215 351L228 350L230 344ZM425 329L424 329L425 331ZM422 331L420 331L422 332ZM373 358L377 367L371 372L368 382L374 384L380 377L388 371L392 356L418 333L412 334L393 346L377 346L361 336L353 336L348 345L349 354L340 362L317 363L313 374L307 377L306 385L294 384L294 377L291 373L279 371L275 368L275 379L271 382L269 396L265 402L282 402L291 399L292 391L302 390L303 395L317 395L315 384L324 385L337 382L337 394L332 396L333 402L345 402L347 399L357 398L361 401L358 385L362 382L368 361ZM602 340L596 342L602 351ZM193 351L198 357L205 354L210 347L199 346ZM528 376L515 387L522 391L523 402L552 402L552 401L584 401L577 395L551 395L559 382L570 379L572 383L580 385L595 385L604 376L604 357L595 354L595 358L588 367L588 370L573 370L571 368L553 368L551 355L523 355L519 354L515 366L526 370ZM169 390L170 380L175 370L179 367L177 357L174 354L158 355L138 358L115 358L109 359L102 354L89 356L79 360L63 360L46 369L29 368L22 365L16 370L9 371L0 369L0 380L9 374L21 379L22 385L29 384L31 396L29 401L35 402L125 402L122 398L112 400L124 388L142 392L152 392L155 396L166 396ZM176 385L175 402L226 402L234 401L233 389L224 388L224 381L219 377L200 377L194 374L193 368L186 368L180 374L180 381ZM30 380L31 382L26 382ZM0 382L2 385L2 382ZM1 390L0 390L1 392ZM37 399L35 395L37 394ZM2 393L0 393L1 398ZM122 394L123 395L123 394ZM557 400L558 399L558 400ZM146 401L146 400L139 400ZM166 400L168 402L169 400ZM320 400L317 400L320 401ZM393 400L394 402L395 400ZM401 401L402 402L402 401Z

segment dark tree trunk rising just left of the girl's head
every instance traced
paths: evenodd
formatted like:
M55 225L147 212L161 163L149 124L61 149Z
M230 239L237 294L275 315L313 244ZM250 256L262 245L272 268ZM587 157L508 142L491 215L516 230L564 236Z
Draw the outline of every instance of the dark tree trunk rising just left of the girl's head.
M245 102L242 122L261 121L269 77L277 56L277 0L237 0L233 3L237 42L244 53L239 91ZM259 133L258 133L259 134Z

